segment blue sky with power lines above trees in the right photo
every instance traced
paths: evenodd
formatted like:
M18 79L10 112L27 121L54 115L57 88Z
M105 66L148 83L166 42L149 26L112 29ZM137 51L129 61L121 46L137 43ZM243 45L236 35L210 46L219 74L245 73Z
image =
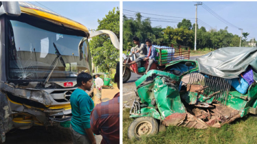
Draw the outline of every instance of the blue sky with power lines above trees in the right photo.
M256 19L256 5L257 1L250 1L250 2L240 2L240 1L203 1L205 5L208 6L212 11L216 14L221 16L223 19L232 23L232 25L236 27L243 28L243 32L248 32L249 37L247 40L251 39L251 37L257 38L257 19ZM124 14L133 14L134 12L128 12L125 10L132 10L137 12L145 12L150 14L159 14L159 15L166 15L166 16L177 16L181 18L172 18L172 17L164 17L164 16L154 16L149 14L142 14L142 16L149 16L151 18L158 19L172 19L172 20L158 20L152 21L152 26L161 25L161 27L177 27L177 23L167 23L167 22L159 22L159 21L174 21L175 20L182 20L183 18L192 18L190 20L191 23L195 23L195 9L196 6L194 5L195 2L193 1L165 1L165 2L155 2L155 1L148 1L148 2L135 2L135 1L125 1L123 2L123 9ZM204 6L205 6L204 5ZM206 8L206 7L205 7ZM230 25L227 25L217 19L215 16L210 14L202 5L197 7L197 18L203 21L204 23L199 23L199 25L208 24L211 27L216 29L224 29L228 26L228 32L232 34L237 34L241 36L241 30L238 28L234 28ZM205 27L207 30L208 27Z

